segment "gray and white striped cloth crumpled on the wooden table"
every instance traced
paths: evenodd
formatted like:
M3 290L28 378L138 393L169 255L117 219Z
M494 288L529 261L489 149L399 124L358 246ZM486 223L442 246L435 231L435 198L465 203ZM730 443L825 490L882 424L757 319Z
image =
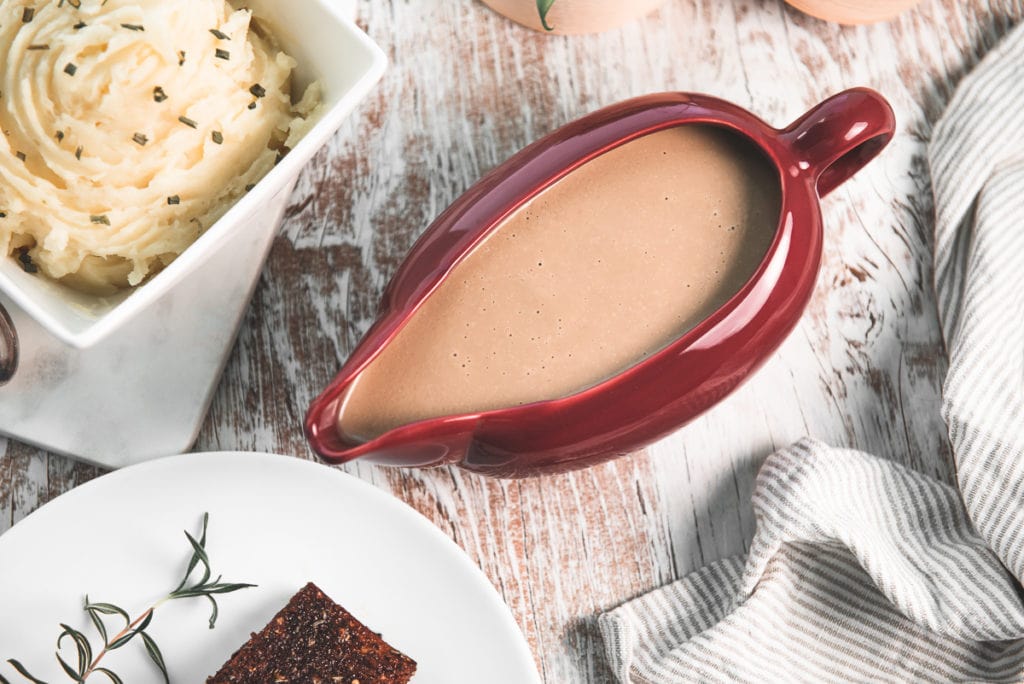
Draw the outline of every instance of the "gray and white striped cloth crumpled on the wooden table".
M1024 681L1024 27L930 157L958 490L813 440L774 454L745 559L599 618L621 681Z

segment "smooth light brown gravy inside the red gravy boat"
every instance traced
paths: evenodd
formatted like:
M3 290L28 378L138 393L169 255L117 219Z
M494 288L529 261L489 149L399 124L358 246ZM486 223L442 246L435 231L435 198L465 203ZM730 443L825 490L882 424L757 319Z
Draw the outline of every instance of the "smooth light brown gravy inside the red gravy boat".
M504 219L353 382L339 430L568 396L665 348L754 275L780 191L745 138L685 125L584 164Z

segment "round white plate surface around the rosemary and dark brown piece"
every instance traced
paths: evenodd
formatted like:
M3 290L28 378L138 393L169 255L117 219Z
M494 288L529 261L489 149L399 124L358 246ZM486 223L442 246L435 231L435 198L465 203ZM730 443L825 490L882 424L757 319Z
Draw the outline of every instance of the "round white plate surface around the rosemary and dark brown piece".
M529 649L494 587L434 525L338 470L266 454L191 454L105 475L59 497L0 537L0 674L19 659L55 684L63 622L98 641L92 601L133 614L173 589L210 513L207 550L224 582L258 584L220 597L215 630L205 599L164 604L147 632L172 682L203 682L306 582L418 664L414 682L539 682ZM67 659L76 661L65 643ZM141 643L103 665L125 682L160 682ZM92 684L106 682L102 676Z

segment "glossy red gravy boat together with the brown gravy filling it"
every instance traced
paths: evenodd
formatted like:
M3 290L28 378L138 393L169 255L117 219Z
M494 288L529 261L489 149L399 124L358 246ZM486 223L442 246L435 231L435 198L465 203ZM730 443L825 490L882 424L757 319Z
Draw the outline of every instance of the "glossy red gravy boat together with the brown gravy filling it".
M312 402L310 445L329 463L521 477L679 429L797 325L821 260L819 199L894 129L864 88L783 129L681 92L560 128L416 243Z

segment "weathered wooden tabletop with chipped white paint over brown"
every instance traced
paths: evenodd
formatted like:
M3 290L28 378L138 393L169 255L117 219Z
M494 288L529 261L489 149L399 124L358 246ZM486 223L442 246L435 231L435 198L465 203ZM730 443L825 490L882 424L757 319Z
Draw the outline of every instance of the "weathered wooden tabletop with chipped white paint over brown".
M546 681L604 681L595 615L743 553L755 476L774 448L810 434L951 476L925 145L957 80L1022 18L1021 0L925 0L891 25L840 28L780 0L670 0L620 31L559 38L473 0L361 0L359 22L391 69L306 169L196 448L310 458L305 408L413 241L478 176L557 126L659 90L709 92L781 126L845 87L877 88L899 134L825 201L810 308L720 407L644 454L554 477L345 468L479 563ZM0 453L0 531L99 474L14 442Z

